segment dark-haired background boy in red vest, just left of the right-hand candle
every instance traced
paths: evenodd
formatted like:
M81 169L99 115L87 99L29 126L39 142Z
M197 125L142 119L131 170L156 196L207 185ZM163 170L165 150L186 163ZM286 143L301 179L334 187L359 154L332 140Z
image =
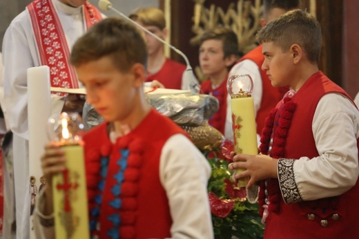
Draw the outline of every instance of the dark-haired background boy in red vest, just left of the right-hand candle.
M237 35L227 28L213 28L200 38L200 66L208 76L201 84L201 93L218 99L218 111L208 120L224 137L233 139L231 96L227 93L229 69L238 58Z

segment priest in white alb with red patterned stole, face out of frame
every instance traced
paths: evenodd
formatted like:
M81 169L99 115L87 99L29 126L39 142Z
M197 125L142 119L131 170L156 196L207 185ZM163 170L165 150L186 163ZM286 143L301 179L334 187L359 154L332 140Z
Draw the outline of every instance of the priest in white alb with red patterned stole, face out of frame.
M49 66L52 87L81 87L75 70L68 64L70 48L79 36L103 17L85 0L35 0L12 20L6 30L2 47L4 97L9 126L14 133L17 238L30 238L28 169L32 159L29 162L27 70ZM83 104L84 100L75 95L51 95L52 113L81 111ZM41 175L37 176L39 179Z

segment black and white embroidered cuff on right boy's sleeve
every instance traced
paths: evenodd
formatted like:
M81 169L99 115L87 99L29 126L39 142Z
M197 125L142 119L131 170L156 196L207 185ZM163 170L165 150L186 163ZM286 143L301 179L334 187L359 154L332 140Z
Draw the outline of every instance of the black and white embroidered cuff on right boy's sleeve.
M280 191L284 202L291 204L293 202L302 202L302 196L295 182L293 171L294 160L280 158L278 160L278 180Z

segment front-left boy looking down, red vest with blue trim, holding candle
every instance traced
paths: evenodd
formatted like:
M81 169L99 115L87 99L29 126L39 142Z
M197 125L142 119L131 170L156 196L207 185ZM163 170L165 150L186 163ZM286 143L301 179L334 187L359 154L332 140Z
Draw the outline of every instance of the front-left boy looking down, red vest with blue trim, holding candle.
M90 234L213 238L210 166L186 133L146 102L146 61L141 33L115 18L99 22L72 48L70 62L87 101L105 120L83 137ZM37 203L37 238L54 235L51 179L64 171L63 157L50 143L41 158L48 184Z

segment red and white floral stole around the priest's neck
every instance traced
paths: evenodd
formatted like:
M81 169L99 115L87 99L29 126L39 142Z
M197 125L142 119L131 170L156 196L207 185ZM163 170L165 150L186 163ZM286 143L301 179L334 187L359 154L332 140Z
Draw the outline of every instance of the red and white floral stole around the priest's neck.
M68 42L52 0L33 1L26 9L30 14L41 65L50 67L51 86L79 88L75 68L68 61ZM83 16L86 30L102 19L99 10L87 1Z

